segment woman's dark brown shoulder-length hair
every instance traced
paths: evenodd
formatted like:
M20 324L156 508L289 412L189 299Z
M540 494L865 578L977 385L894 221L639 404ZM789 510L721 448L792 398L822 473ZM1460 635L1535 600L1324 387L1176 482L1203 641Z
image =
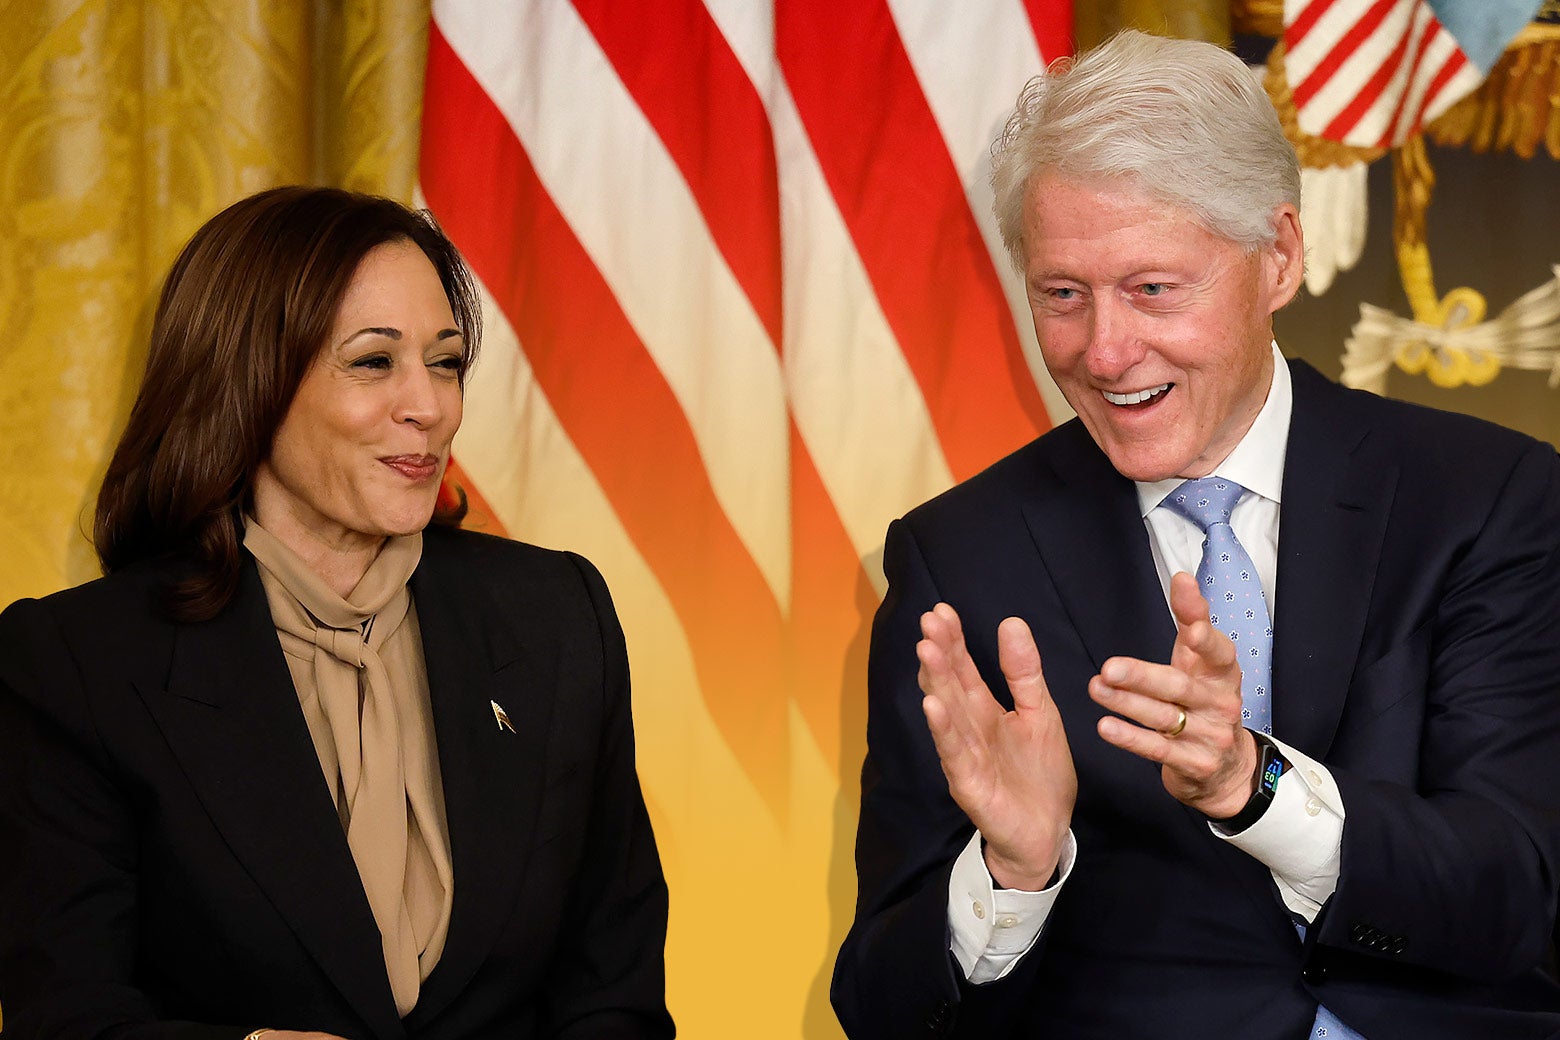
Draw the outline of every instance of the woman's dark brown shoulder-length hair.
M254 471L359 262L388 242L415 243L438 271L465 341L463 385L480 299L427 212L331 187L276 187L195 232L162 285L147 374L98 493L92 535L105 572L181 555L193 568L168 589L170 613L201 621L228 605ZM456 524L463 511L434 519Z

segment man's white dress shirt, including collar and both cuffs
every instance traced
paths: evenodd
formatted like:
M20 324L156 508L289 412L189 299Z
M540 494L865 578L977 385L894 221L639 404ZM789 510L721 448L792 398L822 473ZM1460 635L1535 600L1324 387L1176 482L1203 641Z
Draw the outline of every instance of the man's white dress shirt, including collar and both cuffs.
M1292 407L1289 366L1275 343L1273 384L1267 401L1246 435L1211 474L1234 480L1248 491L1236 504L1229 525L1257 568L1275 621L1279 607L1279 501ZM1181 477L1172 477L1137 485L1167 607L1170 575L1176 571L1197 574L1203 558L1203 532L1197 524L1168 508L1158 508L1179 483ZM1275 697L1303 695L1304 691L1275 689ZM1273 805L1239 834L1223 834L1215 825L1209 825L1209 831L1267 865L1284 904L1312 921L1338 886L1343 801L1326 766L1279 739L1273 742L1293 766L1279 778ZM948 878L948 948L970 982L1000 979L1034 946L1075 861L1076 840L1069 831L1055 884L1042 892L997 889L981 856L981 836L975 833Z

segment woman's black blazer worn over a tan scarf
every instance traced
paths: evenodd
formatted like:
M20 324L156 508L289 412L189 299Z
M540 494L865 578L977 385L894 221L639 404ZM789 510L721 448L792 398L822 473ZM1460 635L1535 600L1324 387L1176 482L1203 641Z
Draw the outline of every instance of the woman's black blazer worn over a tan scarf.
M587 561L424 535L456 890L404 1021L253 561L204 624L164 619L168 574L0 616L6 1040L672 1035L627 656Z

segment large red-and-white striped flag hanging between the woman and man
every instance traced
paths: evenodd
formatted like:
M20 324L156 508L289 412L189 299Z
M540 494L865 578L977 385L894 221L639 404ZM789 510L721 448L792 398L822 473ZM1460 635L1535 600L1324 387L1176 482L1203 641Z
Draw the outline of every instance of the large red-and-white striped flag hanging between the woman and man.
M434 5L421 192L488 295L459 479L618 600L685 1035L827 1020L885 529L1065 415L987 170L1070 5ZM711 957L736 904L772 948Z

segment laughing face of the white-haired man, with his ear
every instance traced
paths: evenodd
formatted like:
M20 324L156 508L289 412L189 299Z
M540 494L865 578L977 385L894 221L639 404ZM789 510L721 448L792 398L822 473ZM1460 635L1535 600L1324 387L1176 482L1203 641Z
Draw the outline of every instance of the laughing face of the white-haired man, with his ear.
M1025 282L1051 379L1133 480L1203 477L1267 401L1271 315L1301 274L1299 218L1246 251L1129 182L1042 173Z

